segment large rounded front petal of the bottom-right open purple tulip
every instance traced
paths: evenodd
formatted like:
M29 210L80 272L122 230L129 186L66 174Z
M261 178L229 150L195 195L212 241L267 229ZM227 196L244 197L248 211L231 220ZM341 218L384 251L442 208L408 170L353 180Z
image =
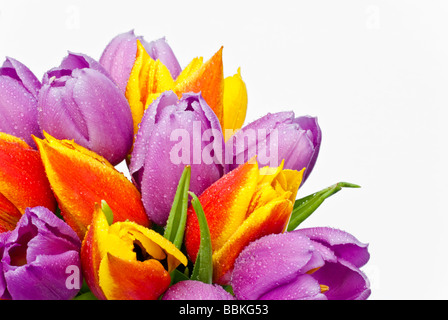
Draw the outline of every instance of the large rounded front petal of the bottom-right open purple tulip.
M307 237L291 232L250 243L235 262L231 281L235 296L240 300L257 300L295 281L300 274L322 266L322 259L312 259L313 250ZM312 265L310 260L314 260Z

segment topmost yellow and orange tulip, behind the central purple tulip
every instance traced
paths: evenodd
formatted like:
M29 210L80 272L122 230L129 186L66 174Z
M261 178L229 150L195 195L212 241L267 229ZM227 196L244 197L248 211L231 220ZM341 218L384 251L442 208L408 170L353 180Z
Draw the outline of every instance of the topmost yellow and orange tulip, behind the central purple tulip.
M145 109L164 91L172 90L179 98L183 93L201 93L215 112L225 129L239 129L246 117L247 90L240 71L224 78L222 48L208 61L194 58L174 80L168 68L153 60L137 40L135 63L126 87L126 98L134 119L134 133L137 133Z

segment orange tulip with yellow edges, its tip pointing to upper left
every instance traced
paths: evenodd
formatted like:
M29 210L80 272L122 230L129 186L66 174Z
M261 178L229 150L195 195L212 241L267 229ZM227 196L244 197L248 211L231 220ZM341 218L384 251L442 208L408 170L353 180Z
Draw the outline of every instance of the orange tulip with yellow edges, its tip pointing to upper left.
M58 140L47 133L34 138L51 188L67 224L83 239L94 204L105 200L116 221L149 226L140 193L106 159L72 140Z

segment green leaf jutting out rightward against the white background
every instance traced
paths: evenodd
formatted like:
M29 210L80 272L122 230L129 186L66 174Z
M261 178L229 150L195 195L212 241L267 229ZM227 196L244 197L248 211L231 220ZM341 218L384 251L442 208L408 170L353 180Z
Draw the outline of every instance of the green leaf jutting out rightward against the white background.
M297 199L294 203L287 230L292 231L296 229L324 202L325 199L339 192L342 188L360 188L360 186L348 182L338 182L319 192Z

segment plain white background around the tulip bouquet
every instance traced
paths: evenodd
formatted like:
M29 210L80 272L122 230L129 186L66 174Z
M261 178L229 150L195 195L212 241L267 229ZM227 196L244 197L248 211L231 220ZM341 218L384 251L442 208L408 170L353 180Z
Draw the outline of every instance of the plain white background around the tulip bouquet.
M318 116L319 159L304 196L338 181L302 226L369 243L371 299L448 298L448 2L0 1L0 59L39 78L67 50L99 59L117 34L165 36L184 67L224 46L241 67L247 121ZM445 203L443 203L445 202Z

